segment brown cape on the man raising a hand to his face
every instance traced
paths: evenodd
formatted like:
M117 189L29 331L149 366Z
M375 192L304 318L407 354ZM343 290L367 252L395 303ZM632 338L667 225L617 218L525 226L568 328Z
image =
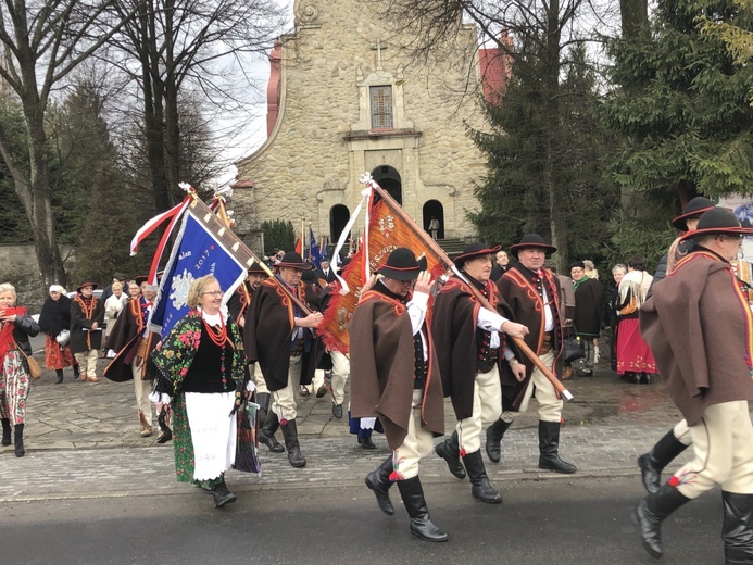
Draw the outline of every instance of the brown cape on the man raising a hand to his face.
M353 311L350 332L350 387L353 417L378 416L390 449L402 445L413 403L414 346L411 318L398 300L369 290ZM431 338L421 426L444 434L442 382Z

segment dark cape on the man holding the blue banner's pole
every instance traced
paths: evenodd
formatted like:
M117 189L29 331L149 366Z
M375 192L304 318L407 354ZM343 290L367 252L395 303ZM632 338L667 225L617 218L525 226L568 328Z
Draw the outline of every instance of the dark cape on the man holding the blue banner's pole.
M298 286L298 298L304 301L303 284ZM293 330L293 304L274 280L266 279L253 293L246 312L243 347L249 363L259 363L271 391L288 385L290 339ZM303 353L301 385L311 385L316 368L316 343Z

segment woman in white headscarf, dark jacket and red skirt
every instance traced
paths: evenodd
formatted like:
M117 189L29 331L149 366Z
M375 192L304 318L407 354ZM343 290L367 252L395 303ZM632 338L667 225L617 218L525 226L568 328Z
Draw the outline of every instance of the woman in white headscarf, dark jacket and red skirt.
M50 297L42 304L39 314L39 328L46 334L45 364L58 375L58 385L63 382L63 369L73 367L73 378L78 378L78 363L71 352L65 336L61 331L71 329L71 299L65 296L65 289L60 285L50 287ZM58 336L61 337L60 342ZM61 343L62 342L62 343Z

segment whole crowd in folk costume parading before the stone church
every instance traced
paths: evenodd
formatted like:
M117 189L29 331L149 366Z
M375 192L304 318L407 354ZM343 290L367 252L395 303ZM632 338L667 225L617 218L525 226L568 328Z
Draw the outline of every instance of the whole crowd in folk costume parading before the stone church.
M238 411L255 401L259 442L273 454L287 453L292 467L305 467L297 424L301 395L324 389L331 393L332 417L348 413L363 449L375 449L373 431L385 435L390 454L364 479L379 510L394 514L390 488L397 482L410 532L442 542L449 535L429 515L421 460L436 452L454 477L469 479L476 500L501 503L482 448L490 463L499 463L502 441L535 398L538 467L577 473L560 453L565 342L575 337L582 343L573 368L591 376L601 331L611 328L611 367L637 384L661 374L683 416L638 460L649 492L635 510L643 547L660 557L663 520L720 485L727 563L753 563L753 313L730 263L753 228L702 198L674 224L682 235L656 276L632 256L612 268L606 286L587 260L574 261L569 276L559 275L550 259L556 248L537 234L506 251L473 242L441 281L416 250L393 249L360 290L347 328L349 350L322 339L341 280L328 261L317 268L297 252L254 263L227 307L216 278L192 281L189 313L164 337L146 326L158 290L147 277L131 282L116 276L105 301L93 296L90 281L72 300L53 285L38 325L15 304L13 287L0 285L2 443L10 444L15 426L15 454L24 454L28 336L45 331L46 362L58 382L67 366L96 382L106 315L104 348L113 359L104 375L134 380L141 436L152 434L156 404L161 423L172 425L161 427L160 441L174 442L178 480L211 492L215 506L236 500L225 473L238 453ZM322 374L328 378L317 386ZM343 406L348 380L350 405ZM452 430L444 429L445 398ZM692 461L663 482L665 467L688 448Z

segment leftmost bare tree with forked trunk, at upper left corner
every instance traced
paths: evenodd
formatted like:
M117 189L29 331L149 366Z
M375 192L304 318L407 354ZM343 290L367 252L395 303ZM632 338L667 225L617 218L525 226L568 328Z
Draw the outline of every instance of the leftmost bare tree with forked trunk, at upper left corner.
M0 77L21 102L29 164L13 151L2 123L0 154L32 226L45 284L66 282L52 214L45 114L53 89L129 18L129 12L115 14L112 7L112 0L15 0L0 5Z

